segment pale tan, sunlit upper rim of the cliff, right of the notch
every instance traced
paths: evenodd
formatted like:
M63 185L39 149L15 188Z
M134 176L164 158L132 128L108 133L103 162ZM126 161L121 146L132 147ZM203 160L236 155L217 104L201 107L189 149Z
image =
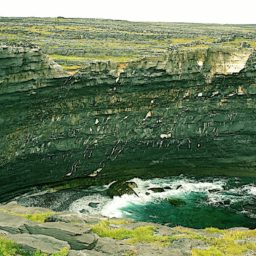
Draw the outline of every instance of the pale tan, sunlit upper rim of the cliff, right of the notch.
M93 63L82 71L82 76L87 79L87 85L106 82L140 85L147 84L148 78L158 82L198 80L199 84L209 84L216 76L239 73L254 55L252 48L183 48L171 50L162 57L134 62ZM95 76L92 77L92 74Z

